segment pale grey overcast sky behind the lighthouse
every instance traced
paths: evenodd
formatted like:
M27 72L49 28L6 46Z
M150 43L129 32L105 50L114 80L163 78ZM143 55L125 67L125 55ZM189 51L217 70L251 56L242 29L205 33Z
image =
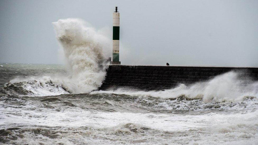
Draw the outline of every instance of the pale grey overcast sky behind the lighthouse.
M257 0L0 0L0 62L62 63L51 23L64 18L104 28L112 41L115 6L121 64L258 66Z

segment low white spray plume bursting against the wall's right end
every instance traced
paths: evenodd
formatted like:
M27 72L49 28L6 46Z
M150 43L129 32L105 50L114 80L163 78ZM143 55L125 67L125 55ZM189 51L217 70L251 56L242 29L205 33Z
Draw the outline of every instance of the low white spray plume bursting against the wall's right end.
M207 82L196 83L182 92L189 98L201 97L204 102L242 101L245 96L258 97L258 82L240 72L227 72Z

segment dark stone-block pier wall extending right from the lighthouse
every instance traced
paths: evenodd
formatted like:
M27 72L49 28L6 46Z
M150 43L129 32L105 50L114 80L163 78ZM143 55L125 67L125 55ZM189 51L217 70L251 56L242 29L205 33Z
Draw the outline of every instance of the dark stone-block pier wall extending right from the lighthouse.
M240 79L258 81L258 67L192 67L192 66L123 66L110 65L99 90L130 88L139 90L171 89L183 83L207 81L220 74L235 71ZM242 78L241 78L242 77Z

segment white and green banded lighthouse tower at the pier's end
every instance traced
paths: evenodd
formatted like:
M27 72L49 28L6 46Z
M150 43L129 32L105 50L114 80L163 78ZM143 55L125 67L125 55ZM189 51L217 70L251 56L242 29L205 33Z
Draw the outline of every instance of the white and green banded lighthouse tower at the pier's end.
M119 12L113 13L113 61L112 64L121 64L119 62Z

